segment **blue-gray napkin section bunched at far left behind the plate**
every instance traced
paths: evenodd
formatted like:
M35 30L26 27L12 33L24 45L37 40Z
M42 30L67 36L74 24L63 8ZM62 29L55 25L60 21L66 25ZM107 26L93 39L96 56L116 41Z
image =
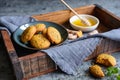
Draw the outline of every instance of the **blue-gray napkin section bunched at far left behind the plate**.
M30 16L3 16L0 17L0 29L13 33L20 25L35 21Z

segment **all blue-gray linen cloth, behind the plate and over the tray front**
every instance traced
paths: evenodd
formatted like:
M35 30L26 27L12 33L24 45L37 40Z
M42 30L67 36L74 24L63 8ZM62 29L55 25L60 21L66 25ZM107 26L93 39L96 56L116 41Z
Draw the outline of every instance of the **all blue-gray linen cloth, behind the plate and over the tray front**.
M0 29L6 29L10 34L20 25L35 21L30 16L4 16L0 18ZM120 41L120 29L105 33L83 37L68 41L61 46L42 50L46 52L60 69L67 74L77 74L77 68L83 63L84 58L90 55L103 37Z

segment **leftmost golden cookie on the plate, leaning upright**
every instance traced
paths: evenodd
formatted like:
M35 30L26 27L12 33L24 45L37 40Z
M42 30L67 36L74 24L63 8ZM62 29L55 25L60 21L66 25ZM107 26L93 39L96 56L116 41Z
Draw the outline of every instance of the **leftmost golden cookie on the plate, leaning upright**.
M36 33L35 26L30 26L30 27L26 28L21 35L21 41L23 43L26 43L27 41L29 41L32 38L32 36L35 33Z

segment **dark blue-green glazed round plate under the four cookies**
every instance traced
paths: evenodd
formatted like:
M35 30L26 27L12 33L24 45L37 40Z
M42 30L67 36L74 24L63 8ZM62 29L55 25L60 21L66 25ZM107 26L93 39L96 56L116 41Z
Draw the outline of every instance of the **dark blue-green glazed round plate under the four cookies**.
M62 39L63 39L63 41L62 41L60 44L62 44L62 43L68 38L68 32L67 32L67 30L66 30L63 26L61 26L61 25L59 25L59 24L56 24L56 23L53 23L53 22L48 22L48 21L36 21L36 22L31 22L31 23L28 23L28 24L21 25L21 26L13 33L13 39L14 39L14 41L15 41L18 45L20 45L20 46L22 46L22 47L24 47L24 48L32 49L32 50L38 50L38 49L32 47L32 46L30 45L30 43L24 44L24 43L22 43L21 40L20 40L21 34L23 33L23 31L24 31L27 27L29 27L30 25L38 24L38 23L44 23L44 24L46 25L46 27L49 27L49 26L55 27L55 28L60 32L60 34L61 34L61 36L62 36ZM60 44L58 44L58 45L60 45ZM49 48L55 47L55 46L58 46L58 45L51 45Z

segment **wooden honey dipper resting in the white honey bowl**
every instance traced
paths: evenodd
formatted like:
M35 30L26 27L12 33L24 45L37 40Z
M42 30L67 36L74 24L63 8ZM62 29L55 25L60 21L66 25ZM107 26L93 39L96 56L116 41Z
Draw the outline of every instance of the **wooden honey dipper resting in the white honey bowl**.
M83 23L85 23L88 26L91 26L91 23L86 18L79 16L78 13L75 10L73 10L64 0L61 0L61 2L65 4L65 6L69 8Z

